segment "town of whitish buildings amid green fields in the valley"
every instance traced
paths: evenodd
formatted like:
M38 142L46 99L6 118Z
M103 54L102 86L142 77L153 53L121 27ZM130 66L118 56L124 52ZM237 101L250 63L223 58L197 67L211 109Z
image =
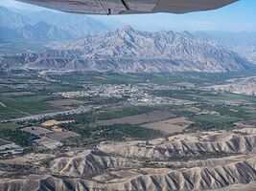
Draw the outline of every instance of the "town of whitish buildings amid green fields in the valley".
M112 85L105 84L99 86L84 85L84 91L76 92L61 92L55 93L56 96L63 96L65 98L76 98L76 97L117 97L125 98L128 103L134 105L149 105L149 104L192 104L191 101L175 99L166 96L153 96L151 92L160 90L176 90L180 87L171 87L167 85L157 85L151 83L141 83L136 85Z

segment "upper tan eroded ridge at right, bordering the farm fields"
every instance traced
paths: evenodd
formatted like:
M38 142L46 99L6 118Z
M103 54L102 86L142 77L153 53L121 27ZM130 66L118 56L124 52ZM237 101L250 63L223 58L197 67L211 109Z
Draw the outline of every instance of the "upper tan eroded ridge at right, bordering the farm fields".
M245 130L244 130L245 131ZM106 153L129 158L178 159L242 154L256 146L256 136L234 132L208 132L178 135L162 140L131 141L127 143L102 142L98 148Z

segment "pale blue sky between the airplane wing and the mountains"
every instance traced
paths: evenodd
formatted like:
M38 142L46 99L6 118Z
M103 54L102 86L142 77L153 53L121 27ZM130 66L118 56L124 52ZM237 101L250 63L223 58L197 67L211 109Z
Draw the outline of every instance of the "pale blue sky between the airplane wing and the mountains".
M13 0L0 0L0 6L25 11L47 10ZM185 14L153 13L89 16L97 18L106 24L112 23L117 26L130 25L142 31L256 32L256 0L239 0L219 10L198 11Z

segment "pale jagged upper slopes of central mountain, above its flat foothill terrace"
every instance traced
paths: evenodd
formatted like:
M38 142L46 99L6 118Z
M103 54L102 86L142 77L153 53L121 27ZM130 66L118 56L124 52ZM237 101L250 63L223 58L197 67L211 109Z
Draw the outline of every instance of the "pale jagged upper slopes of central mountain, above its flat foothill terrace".
M80 50L83 58L140 58L166 60L185 69L232 71L244 68L244 59L209 40L189 32L139 32L130 27L105 35L88 36L58 44L58 50ZM167 61L170 60L170 61Z

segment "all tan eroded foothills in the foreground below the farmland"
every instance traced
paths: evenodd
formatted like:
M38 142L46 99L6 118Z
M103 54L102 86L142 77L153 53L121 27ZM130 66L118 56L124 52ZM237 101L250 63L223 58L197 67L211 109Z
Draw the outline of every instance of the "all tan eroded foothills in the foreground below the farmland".
M244 128L149 141L102 142L96 149L62 157L38 159L29 154L0 161L6 164L0 189L231 190L239 184L241 189L251 190L256 181L255 146L255 129ZM11 172L15 162L20 172ZM25 165L31 165L34 173L22 172ZM5 179L10 175L12 180Z

